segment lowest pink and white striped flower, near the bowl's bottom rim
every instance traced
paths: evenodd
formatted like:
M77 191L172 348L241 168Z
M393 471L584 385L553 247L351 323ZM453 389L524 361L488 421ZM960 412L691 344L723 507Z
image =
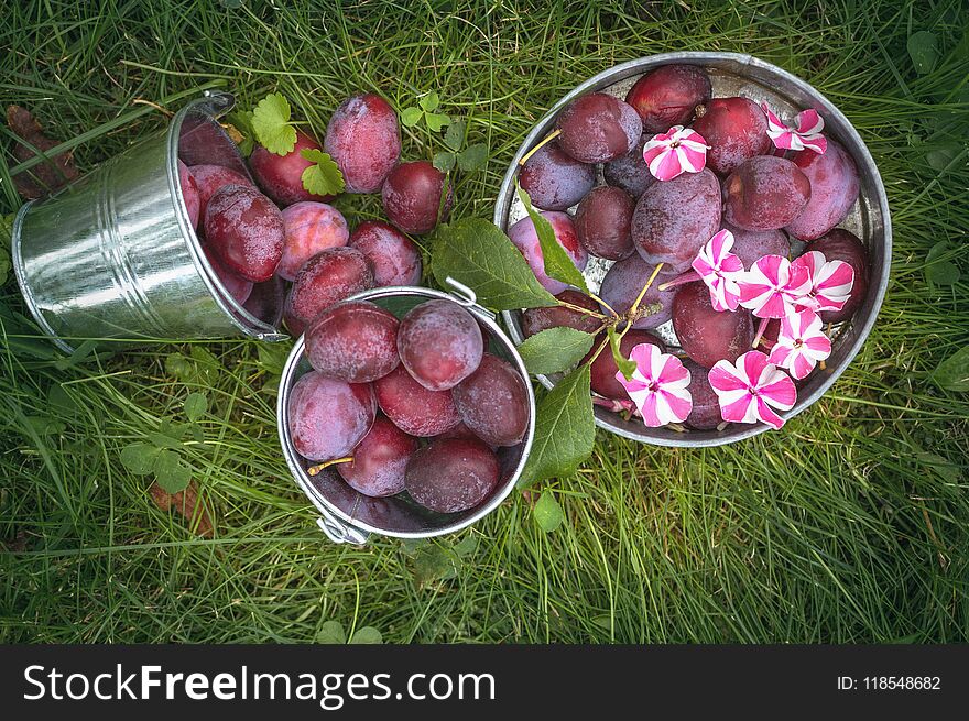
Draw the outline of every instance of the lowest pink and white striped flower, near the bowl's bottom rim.
M736 365L728 360L717 361L707 378L717 393L720 415L732 423L762 420L781 428L784 418L774 408L790 411L797 400L794 381L759 350L745 352Z

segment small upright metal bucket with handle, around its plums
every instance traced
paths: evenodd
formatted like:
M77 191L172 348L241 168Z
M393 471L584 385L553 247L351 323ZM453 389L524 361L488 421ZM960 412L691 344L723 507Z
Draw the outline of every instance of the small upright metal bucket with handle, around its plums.
M464 306L481 326L486 338L486 350L509 361L525 381L529 393L529 430L525 438L518 446L498 449L502 480L481 505L461 513L435 513L406 496L374 499L363 495L345 483L333 469L324 469L317 476L309 476L306 468L312 463L300 456L290 435L290 393L296 381L304 373L313 370L303 352L304 339L301 336L290 353L280 380L276 404L280 443L293 479L319 512L317 525L334 543L362 544L371 533L398 538L432 538L460 531L497 509L514 489L525 467L535 435L535 395L525 364L514 343L494 321L494 315L477 304L477 298L469 288L454 282L453 285L456 288L455 294L415 286L391 286L364 291L350 299L370 301L398 317L403 316L414 306L434 298L454 301Z

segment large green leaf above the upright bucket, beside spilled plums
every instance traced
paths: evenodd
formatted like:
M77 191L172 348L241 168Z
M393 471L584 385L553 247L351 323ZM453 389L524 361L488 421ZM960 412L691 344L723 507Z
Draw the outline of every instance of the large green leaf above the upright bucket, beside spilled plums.
M478 302L494 310L557 305L541 286L525 259L497 226L480 218L462 218L439 226L432 239L434 277L473 288Z

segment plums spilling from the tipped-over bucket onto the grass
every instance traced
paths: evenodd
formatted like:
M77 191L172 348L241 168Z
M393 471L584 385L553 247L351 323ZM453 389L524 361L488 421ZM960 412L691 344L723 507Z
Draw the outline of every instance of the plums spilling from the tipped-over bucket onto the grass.
M351 232L330 196L306 189L307 151L333 159L347 193L380 193L390 222L367 220ZM285 296L273 305L298 336L318 313L355 293L420 283L421 251L405 233L433 230L453 193L448 186L442 208L445 175L400 156L396 113L383 98L362 94L337 108L322 143L296 131L292 151L257 144L248 166L236 156L226 165L179 161L185 209L226 295L258 317L268 297Z

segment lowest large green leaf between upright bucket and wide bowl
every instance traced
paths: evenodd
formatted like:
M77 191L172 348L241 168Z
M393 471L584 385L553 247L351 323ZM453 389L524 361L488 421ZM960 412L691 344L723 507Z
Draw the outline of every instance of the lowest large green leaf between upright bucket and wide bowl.
M595 438L589 365L584 364L538 402L535 441L519 487L574 473L591 456Z

